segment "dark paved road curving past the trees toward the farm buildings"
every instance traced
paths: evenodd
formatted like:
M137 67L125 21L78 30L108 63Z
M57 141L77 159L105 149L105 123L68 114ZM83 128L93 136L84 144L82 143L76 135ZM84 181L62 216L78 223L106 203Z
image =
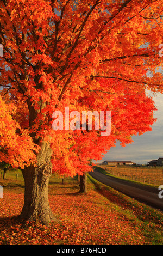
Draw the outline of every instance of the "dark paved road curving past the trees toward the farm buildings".
M98 172L97 169L89 174L103 184L108 185L109 187L112 187L131 198L135 198L141 203L145 203L155 209L163 211L163 198L159 198L158 195L160 190L158 188L148 187L141 184L135 184L130 181L114 178Z

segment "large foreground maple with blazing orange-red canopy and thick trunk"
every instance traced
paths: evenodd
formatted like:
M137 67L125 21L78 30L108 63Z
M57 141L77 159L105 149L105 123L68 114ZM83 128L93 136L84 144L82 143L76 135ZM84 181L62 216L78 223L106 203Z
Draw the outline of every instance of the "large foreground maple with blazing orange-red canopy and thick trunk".
M22 170L21 218L54 220L52 172L83 175L116 141L151 130L162 92L161 0L0 2L0 161ZM148 71L152 76L148 76ZM111 111L111 134L54 130L53 113Z

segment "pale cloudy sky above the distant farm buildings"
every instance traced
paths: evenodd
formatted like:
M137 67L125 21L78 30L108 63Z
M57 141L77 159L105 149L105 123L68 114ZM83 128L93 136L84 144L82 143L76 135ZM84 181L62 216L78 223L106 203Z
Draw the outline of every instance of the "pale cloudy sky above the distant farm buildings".
M158 110L154 112L157 121L152 125L152 131L133 136L134 142L126 147L121 147L120 142L117 142L116 147L111 148L98 163L105 160L129 160L137 164L147 164L163 157L163 94L158 93L153 99Z

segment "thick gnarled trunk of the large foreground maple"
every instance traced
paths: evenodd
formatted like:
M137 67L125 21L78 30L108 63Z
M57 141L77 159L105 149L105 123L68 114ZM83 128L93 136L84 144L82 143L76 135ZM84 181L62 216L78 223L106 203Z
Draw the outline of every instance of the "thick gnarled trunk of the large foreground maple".
M20 215L21 220L36 221L48 225L57 221L51 211L48 201L48 182L52 172L52 149L49 144L41 143L37 155L37 167L30 166L22 169L25 192L24 205Z

